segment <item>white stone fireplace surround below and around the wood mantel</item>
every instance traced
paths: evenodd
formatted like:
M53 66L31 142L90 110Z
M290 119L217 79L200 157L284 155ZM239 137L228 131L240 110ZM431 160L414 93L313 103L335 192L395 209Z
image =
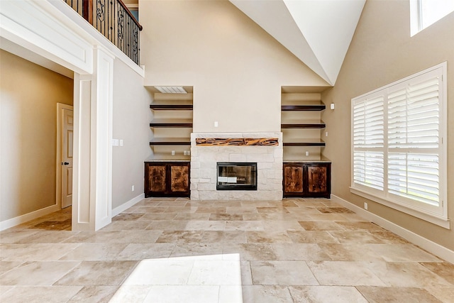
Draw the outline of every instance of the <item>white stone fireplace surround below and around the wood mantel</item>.
M196 145L196 138L278 138L278 145ZM281 200L282 133L192 133L192 200ZM216 190L217 162L257 162L257 190Z

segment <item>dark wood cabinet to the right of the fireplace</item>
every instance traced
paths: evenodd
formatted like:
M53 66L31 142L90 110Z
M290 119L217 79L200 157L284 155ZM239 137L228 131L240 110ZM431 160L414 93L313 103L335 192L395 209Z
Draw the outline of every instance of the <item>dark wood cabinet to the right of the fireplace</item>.
M331 195L331 162L284 162L284 197Z

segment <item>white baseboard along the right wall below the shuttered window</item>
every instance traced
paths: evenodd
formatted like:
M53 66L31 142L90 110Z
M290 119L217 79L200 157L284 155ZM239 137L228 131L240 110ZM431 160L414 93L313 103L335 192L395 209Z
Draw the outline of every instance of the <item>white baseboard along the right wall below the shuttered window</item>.
M386 228L388 231L392 231L396 233L398 236L410 241L411 243L416 244L417 246L427 250L429 253L433 253L434 255L438 256L438 258L442 258L450 263L454 263L454 251L440 244L437 244L433 241L424 238L423 236L419 236L418 234L414 233L413 231L409 231L402 226L392 223L387 219L383 219L381 216L377 216L376 214L372 214L370 211L366 211L362 209L360 206L356 206L353 203L348 202L345 199L337 197L334 194L331 194L331 201L338 202L342 204L346 208L350 209L351 211L355 211L356 214L362 216L364 219L371 221L383 228Z

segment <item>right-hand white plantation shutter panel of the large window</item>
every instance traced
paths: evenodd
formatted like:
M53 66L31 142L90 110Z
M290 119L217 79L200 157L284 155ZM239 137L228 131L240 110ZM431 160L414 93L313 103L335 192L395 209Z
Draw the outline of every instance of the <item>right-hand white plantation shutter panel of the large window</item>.
M440 203L439 82L432 73L388 95L388 192L434 206Z

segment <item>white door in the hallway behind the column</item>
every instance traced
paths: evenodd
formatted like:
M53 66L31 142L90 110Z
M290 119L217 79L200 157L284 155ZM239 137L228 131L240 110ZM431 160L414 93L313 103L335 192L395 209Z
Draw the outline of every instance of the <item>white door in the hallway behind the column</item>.
M72 109L62 109L62 208L72 205L72 134L74 115Z

